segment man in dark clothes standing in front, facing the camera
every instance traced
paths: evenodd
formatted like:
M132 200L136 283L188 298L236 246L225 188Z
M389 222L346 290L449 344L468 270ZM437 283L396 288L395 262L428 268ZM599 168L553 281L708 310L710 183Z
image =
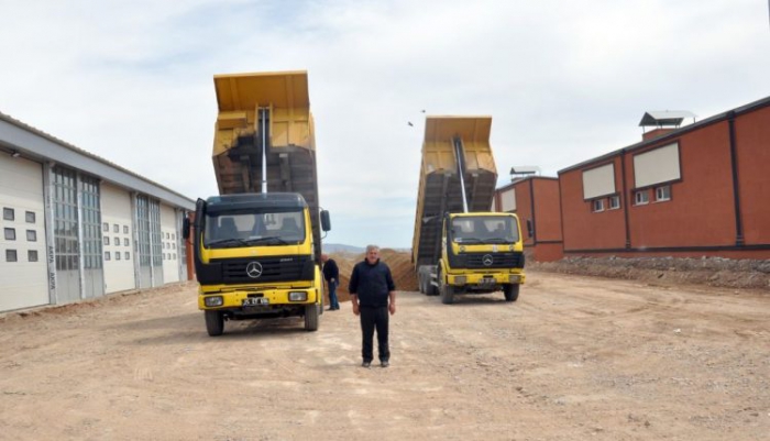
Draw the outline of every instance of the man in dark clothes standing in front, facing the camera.
M383 367L387 367L391 360L387 315L396 313L396 285L393 283L391 268L380 262L380 246L366 246L366 258L353 267L348 291L353 305L353 313L361 316L363 334L361 355L364 359L361 366L372 365L374 360L372 339L376 329L380 363Z

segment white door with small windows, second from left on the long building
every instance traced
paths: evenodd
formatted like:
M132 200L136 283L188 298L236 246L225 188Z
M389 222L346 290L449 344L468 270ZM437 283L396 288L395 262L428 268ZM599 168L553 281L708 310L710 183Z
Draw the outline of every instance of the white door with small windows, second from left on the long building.
M132 219L131 195L121 188L102 183L101 234L106 238L102 240L102 246L107 294L136 287ZM108 231L105 231L105 223Z

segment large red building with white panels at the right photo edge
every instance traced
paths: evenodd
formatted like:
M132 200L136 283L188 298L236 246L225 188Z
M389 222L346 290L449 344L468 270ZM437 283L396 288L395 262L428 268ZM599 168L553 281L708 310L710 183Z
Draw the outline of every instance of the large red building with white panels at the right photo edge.
M559 187L565 256L770 258L770 97L649 132Z

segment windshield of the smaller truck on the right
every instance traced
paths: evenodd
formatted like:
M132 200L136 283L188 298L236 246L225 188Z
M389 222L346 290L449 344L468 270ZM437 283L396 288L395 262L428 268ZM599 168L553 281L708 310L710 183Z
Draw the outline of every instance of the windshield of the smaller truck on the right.
M519 240L516 219L509 216L454 218L450 234L457 243L514 243Z

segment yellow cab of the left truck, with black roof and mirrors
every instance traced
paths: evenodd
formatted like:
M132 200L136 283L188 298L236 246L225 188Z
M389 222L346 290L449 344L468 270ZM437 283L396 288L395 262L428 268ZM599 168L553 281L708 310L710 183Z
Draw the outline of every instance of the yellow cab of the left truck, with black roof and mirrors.
M329 214L321 212L329 230ZM198 308L210 335L224 320L302 316L318 329L323 284L310 210L299 194L198 199L193 233Z

